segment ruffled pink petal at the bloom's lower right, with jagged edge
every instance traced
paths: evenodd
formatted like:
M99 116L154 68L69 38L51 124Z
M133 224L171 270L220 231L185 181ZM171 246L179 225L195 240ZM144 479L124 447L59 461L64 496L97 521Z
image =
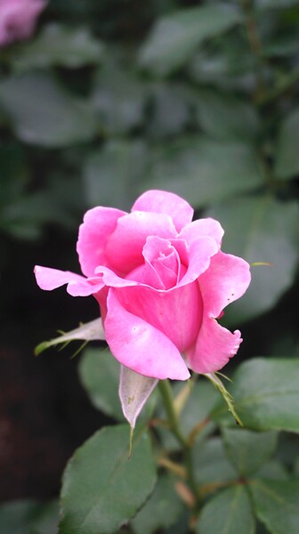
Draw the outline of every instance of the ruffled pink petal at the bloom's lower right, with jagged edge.
M190 368L196 373L214 373L220 370L238 352L241 334L223 328L215 319L204 317L198 340L186 353Z

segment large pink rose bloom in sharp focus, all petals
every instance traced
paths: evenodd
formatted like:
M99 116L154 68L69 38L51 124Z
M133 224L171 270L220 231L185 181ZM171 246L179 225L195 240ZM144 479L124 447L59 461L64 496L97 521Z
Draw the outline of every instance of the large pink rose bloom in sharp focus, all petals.
M185 380L189 368L213 373L242 341L217 318L245 293L250 271L221 251L220 223L192 216L185 200L162 190L142 194L130 214L94 207L77 240L85 277L36 266L37 284L94 295L110 351L125 367L159 379Z

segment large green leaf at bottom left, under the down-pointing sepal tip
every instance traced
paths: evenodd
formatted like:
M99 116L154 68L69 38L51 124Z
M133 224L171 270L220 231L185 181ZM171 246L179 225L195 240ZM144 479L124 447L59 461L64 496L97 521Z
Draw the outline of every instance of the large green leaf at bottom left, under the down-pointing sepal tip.
M137 433L136 433L137 434ZM60 534L113 534L136 514L156 482L148 433L104 427L77 449L63 475Z

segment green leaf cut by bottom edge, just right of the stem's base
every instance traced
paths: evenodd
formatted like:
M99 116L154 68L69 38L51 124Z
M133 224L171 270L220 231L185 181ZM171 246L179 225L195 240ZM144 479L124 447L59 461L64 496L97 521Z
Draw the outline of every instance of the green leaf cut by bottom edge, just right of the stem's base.
M198 534L255 534L255 517L244 486L222 490L203 507Z

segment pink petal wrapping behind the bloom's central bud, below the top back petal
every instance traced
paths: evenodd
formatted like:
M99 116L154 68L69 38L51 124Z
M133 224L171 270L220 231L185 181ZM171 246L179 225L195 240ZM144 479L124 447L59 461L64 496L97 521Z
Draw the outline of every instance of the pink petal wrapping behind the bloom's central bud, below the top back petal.
M134 211L117 221L106 248L109 263L126 274L143 263L142 249L148 236L174 238L175 235L169 215Z

